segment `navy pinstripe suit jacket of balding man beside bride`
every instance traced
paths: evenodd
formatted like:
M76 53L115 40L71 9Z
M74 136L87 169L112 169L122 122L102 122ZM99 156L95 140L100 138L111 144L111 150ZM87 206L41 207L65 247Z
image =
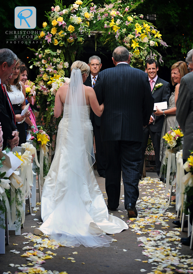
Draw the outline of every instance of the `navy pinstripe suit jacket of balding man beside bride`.
M142 142L154 106L147 74L118 64L99 73L95 91L99 104L104 102L102 141Z

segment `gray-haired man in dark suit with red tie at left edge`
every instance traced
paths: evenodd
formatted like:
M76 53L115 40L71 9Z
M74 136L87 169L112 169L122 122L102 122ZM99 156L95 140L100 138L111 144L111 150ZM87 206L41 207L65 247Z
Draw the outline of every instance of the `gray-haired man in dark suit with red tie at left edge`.
M7 48L0 49L0 122L3 131L3 149L8 145L11 149L19 143L19 132L15 125L15 113L5 86L12 78L17 56Z

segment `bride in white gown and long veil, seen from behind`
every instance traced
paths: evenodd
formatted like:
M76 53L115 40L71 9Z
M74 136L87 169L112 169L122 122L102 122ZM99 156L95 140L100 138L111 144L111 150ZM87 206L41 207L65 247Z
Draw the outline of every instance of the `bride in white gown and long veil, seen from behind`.
M43 224L34 230L68 247L109 246L113 239L106 233L128 229L123 220L108 214L92 169L95 159L90 107L101 116L104 105L99 105L93 88L83 85L89 70L85 62L75 61L69 85L56 93L54 115L57 118L63 112L63 119L42 191Z

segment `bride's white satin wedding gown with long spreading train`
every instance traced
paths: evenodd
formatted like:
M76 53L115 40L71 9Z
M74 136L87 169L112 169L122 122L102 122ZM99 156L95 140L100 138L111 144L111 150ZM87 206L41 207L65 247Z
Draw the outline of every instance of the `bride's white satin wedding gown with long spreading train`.
M108 213L89 161L93 150L93 146L88 147L88 144L92 145L89 133L93 129L90 105L84 107L84 112L85 134L80 145L79 136L70 135L68 106L64 108L64 116L58 127L55 156L43 186L43 224L39 230L68 247L83 244L96 248L110 245L112 238L106 233L120 233L128 229L128 225ZM76 143L79 145L76 146ZM68 147L71 147L70 151ZM39 230L35 229L34 233L39 234Z

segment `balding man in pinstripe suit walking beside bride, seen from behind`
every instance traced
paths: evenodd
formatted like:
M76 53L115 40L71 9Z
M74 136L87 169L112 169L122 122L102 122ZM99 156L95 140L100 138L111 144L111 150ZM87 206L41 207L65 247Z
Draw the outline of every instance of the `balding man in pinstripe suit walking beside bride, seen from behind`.
M104 102L101 136L108 208L116 210L119 206L122 167L125 209L128 217L137 217L143 125L149 123L154 98L145 72L130 67L125 47L117 47L112 59L115 67L100 72L94 87L99 103Z

